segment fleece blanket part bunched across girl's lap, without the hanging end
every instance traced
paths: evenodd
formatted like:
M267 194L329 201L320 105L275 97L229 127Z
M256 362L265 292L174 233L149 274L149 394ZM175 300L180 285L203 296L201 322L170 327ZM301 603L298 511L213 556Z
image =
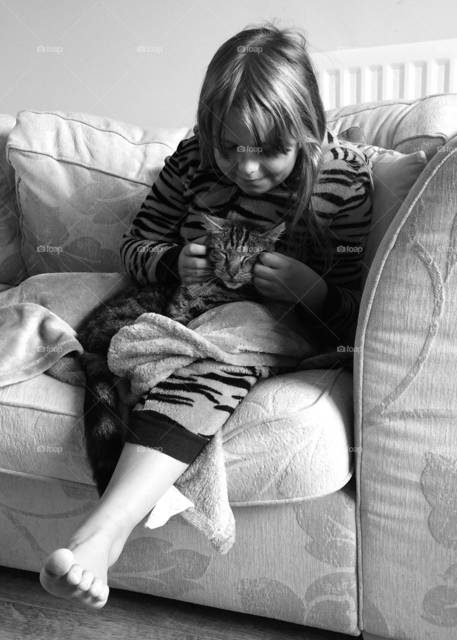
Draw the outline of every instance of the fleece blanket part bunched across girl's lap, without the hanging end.
M211 370L211 361L234 367L295 367L316 355L297 321L281 307L233 302L211 309L188 326L160 314L142 314L111 340L108 366L131 380L131 403L182 367ZM204 362L200 362L200 361Z

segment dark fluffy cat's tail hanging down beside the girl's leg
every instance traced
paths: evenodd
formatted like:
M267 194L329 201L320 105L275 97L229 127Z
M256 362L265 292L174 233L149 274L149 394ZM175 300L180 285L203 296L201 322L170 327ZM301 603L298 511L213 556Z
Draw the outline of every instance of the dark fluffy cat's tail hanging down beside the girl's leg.
M127 416L121 410L115 376L106 360L84 351L80 362L86 372L84 436L92 477L101 496L124 447ZM123 415L124 413L124 415Z

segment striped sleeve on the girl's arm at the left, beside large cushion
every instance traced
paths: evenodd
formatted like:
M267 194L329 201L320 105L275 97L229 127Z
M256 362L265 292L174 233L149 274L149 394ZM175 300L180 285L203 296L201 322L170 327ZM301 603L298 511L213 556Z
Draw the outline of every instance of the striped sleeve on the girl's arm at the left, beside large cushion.
M157 282L157 265L164 252L179 253L180 223L186 214L186 180L198 165L195 136L180 141L152 185L131 228L124 234L120 255L125 270L141 284Z

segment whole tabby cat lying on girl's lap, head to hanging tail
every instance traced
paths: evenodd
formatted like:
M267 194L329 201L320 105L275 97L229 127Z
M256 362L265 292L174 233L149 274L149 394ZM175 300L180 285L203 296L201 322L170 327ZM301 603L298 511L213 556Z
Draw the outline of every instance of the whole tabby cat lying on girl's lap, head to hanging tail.
M78 340L84 348L80 362L86 374L86 454L100 495L116 467L125 436L126 420L119 415L122 385L116 385L107 364L113 335L144 313L154 312L186 325L218 305L260 300L252 284L253 266L260 253L275 248L285 228L284 223L271 228L205 215L202 221L207 232L206 258L214 270L209 280L171 288L157 283L142 288L132 285L96 307L79 330Z

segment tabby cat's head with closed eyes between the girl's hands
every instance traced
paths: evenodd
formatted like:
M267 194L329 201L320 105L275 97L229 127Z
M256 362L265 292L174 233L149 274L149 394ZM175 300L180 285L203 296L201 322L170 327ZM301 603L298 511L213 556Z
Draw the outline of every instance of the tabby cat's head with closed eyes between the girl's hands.
M272 230L236 220L205 218L206 257L214 268L214 276L227 289L239 289L252 283L253 266L259 255L275 248L275 242L285 228L284 223Z

